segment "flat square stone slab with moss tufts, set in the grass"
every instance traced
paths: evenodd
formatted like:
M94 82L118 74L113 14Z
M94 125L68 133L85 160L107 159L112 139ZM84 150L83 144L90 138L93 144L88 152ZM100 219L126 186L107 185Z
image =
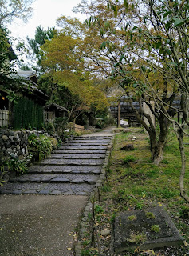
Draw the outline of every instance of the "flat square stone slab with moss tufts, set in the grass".
M116 253L165 246L183 245L183 238L163 207L133 210L116 215L114 250Z

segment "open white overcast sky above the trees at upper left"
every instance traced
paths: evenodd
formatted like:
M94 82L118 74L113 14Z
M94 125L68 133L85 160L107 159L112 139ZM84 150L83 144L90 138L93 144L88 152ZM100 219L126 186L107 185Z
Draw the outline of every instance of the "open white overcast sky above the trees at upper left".
M81 0L35 0L32 6L33 17L26 24L22 21L12 22L9 26L11 34L14 38L34 38L36 27L39 25L47 29L56 26L56 20L61 15L77 17L72 9L79 3Z

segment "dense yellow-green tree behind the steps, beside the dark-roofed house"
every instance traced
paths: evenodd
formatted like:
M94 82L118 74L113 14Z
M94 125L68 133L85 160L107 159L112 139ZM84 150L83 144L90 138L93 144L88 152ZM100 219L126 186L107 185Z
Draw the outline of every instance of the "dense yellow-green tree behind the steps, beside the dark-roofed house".
M45 76L49 76L51 85L56 85L58 92L62 87L69 89L77 102L75 104L73 101L74 107L70 111L73 113L74 110L75 118L84 111L90 111L91 106L97 110L108 106L105 94L94 84L89 72L85 71L80 45L80 38L61 32L41 46L41 64L46 70Z

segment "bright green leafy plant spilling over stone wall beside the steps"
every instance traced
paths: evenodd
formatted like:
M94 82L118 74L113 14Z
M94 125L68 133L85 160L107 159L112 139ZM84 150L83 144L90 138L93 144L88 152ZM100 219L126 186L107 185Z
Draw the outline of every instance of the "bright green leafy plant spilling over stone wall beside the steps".
M37 137L37 135L31 134L28 137L29 150L37 154L38 160L44 159L51 153L53 146L57 146L54 145L54 140L54 138L50 138L47 135L41 134Z

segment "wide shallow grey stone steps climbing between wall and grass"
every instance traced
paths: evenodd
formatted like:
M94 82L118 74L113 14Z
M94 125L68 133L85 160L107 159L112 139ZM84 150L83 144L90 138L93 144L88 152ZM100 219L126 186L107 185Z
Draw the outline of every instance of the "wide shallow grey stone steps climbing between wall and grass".
M58 150L11 178L0 194L89 194L99 178L112 136L69 138Z

